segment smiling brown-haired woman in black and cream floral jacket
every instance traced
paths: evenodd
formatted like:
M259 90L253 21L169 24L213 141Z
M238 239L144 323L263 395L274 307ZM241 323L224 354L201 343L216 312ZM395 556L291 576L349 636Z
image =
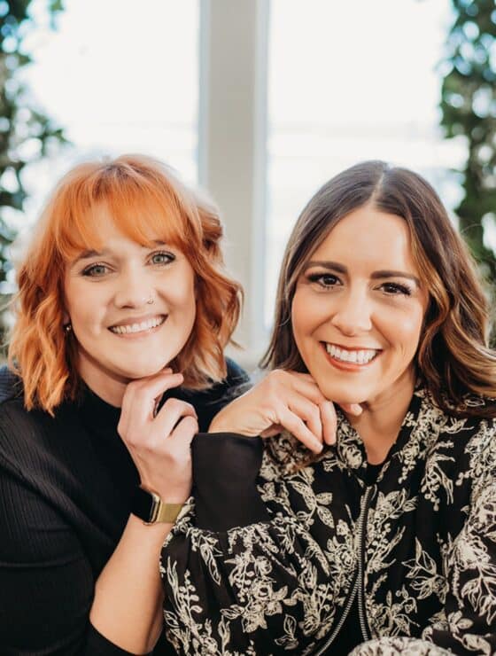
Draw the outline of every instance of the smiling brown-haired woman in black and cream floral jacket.
M370 161L317 191L264 363L193 443L195 504L161 558L175 648L496 652L496 356L469 254L421 176ZM336 441L329 400L346 409Z

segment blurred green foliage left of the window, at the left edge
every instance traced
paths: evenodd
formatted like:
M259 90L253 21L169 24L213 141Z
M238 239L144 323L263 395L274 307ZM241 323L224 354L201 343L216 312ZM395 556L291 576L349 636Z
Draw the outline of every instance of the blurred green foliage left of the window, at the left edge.
M50 26L61 0L45 0ZM27 191L22 171L66 142L58 128L42 109L36 106L27 85L19 80L19 71L31 62L25 48L27 35L35 29L29 15L31 0L0 0L0 301L4 306L10 286L6 277L11 264L7 248L15 237L9 216L22 211ZM0 332L2 330L0 321Z

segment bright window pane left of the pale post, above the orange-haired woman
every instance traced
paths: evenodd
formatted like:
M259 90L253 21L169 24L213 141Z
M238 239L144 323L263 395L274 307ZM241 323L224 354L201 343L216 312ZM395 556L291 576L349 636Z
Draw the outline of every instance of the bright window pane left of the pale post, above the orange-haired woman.
M69 0L55 31L46 0L32 8L24 79L74 147L27 168L27 215L91 156L143 152L196 182L199 0Z

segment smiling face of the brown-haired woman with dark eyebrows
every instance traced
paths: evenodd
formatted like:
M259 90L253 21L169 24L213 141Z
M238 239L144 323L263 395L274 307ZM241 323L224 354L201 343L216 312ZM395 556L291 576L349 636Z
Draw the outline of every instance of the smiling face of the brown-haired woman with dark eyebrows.
M291 323L298 351L335 402L411 396L428 293L407 223L366 205L345 216L298 278Z

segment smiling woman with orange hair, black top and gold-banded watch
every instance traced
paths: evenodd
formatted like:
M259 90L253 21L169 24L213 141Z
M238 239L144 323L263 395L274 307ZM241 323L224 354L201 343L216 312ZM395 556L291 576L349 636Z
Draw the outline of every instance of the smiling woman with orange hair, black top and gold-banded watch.
M74 168L36 225L0 380L4 656L167 653L159 551L190 441L246 381L221 234L142 156Z

